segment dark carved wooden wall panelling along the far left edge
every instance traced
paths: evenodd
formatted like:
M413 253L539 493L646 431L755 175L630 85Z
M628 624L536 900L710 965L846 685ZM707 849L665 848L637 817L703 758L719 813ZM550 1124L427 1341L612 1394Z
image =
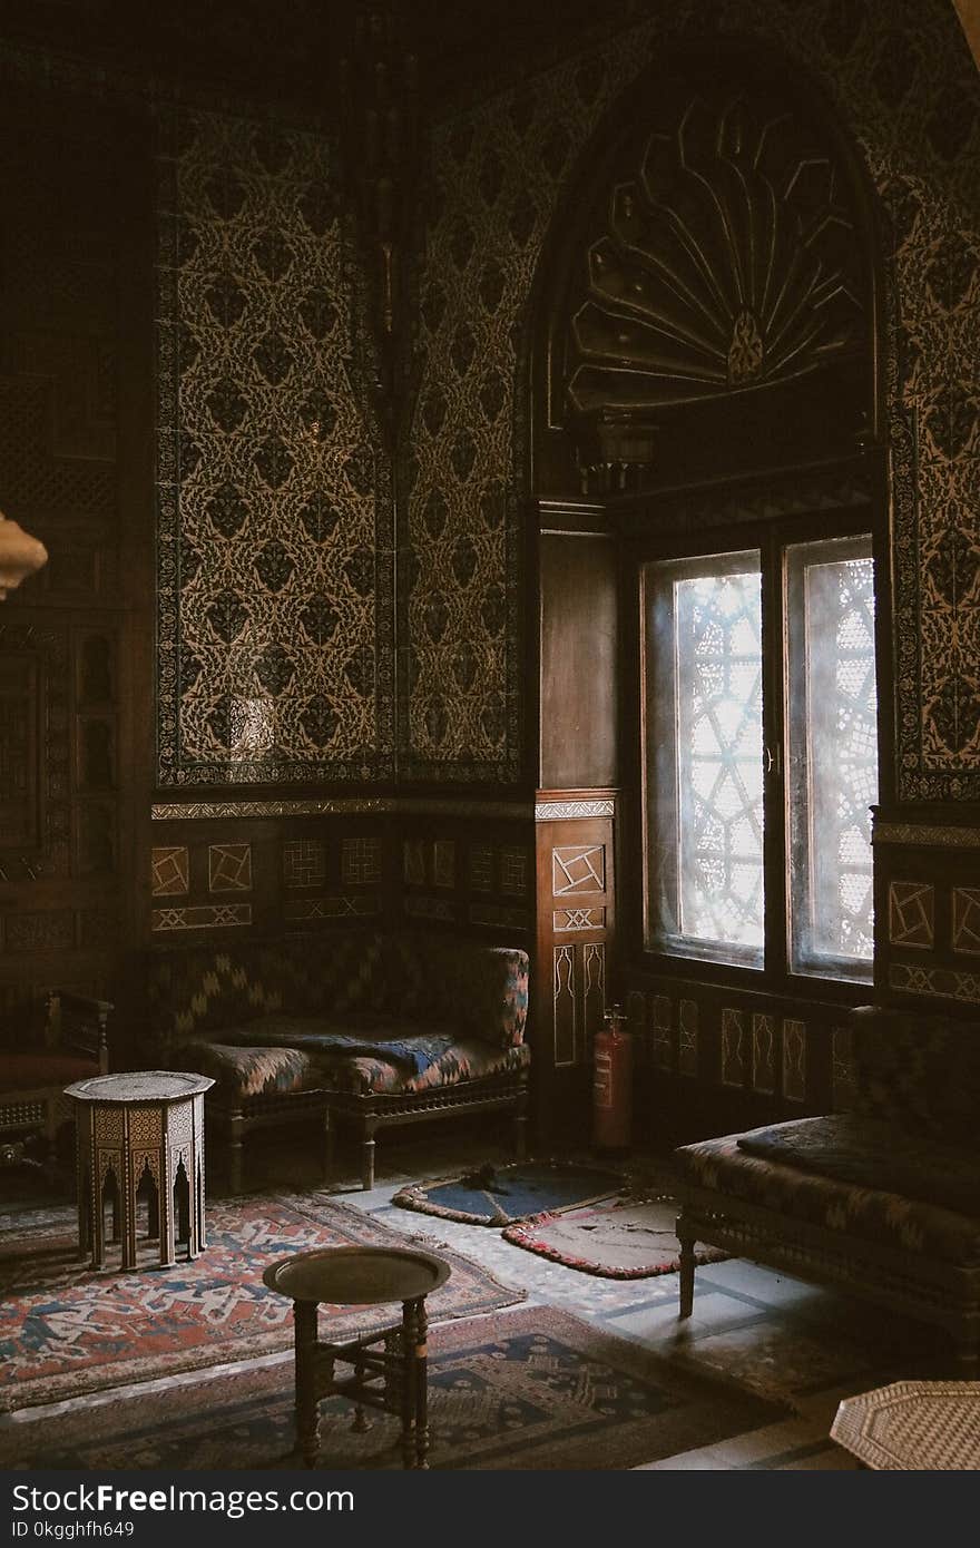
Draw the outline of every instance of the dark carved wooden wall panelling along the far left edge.
M0 610L0 1022L14 1042L45 988L111 991L130 918L121 139L99 104L43 85L0 96L0 506L50 556Z

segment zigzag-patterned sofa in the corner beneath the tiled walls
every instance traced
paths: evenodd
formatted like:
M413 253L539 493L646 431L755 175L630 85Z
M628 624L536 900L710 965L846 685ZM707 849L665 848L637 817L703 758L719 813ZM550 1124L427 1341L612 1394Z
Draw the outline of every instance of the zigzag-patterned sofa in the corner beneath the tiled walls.
M523 1149L529 1048L528 957L424 932L167 947L147 963L153 1062L215 1079L214 1116L242 1189L246 1132L322 1118L359 1124L373 1186L384 1124L509 1107Z

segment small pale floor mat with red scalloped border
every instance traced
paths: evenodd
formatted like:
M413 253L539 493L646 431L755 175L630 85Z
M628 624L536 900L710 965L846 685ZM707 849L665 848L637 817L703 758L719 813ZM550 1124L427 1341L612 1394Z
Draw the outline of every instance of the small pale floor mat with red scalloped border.
M680 1268L681 1245L672 1198L610 1198L587 1209L533 1215L508 1226L505 1241L539 1257L602 1279L650 1279ZM695 1263L721 1263L729 1254L697 1246Z

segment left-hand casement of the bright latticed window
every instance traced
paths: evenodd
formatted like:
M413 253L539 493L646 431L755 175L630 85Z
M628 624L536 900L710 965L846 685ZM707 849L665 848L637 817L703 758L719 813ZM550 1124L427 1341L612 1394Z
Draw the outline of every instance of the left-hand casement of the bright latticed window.
M763 947L759 554L647 567L647 935L759 966Z

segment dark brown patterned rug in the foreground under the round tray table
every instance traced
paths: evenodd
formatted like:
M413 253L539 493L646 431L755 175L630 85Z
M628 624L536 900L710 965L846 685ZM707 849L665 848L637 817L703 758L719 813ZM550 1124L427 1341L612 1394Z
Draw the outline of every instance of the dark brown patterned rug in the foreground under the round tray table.
M608 1469L656 1461L783 1418L786 1407L689 1375L638 1344L547 1307L447 1322L429 1341L429 1464ZM320 1406L322 1468L401 1468L399 1423L351 1429ZM291 1358L82 1399L0 1424L0 1466L166 1471L294 1468Z

